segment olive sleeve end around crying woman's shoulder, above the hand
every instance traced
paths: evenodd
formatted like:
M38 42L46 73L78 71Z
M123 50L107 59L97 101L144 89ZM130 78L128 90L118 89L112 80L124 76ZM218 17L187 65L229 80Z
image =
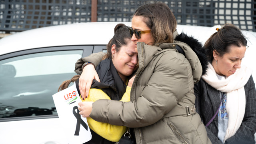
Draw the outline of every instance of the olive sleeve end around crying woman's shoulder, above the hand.
M94 64L95 67L97 67L98 64L102 61L102 58L105 54L106 53L104 52L98 52L98 53L93 53L90 56L80 58L79 60L76 61L75 72L77 74L82 74L82 66L85 62L91 62Z

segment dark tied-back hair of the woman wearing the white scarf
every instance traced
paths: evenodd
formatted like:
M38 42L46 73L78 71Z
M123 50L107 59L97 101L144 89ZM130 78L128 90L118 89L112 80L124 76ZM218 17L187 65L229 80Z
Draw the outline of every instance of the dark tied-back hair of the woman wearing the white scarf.
M204 47L208 57L208 61L213 60L213 51L216 50L219 56L223 56L230 52L230 46L235 45L238 47L246 46L247 40L242 34L241 30L233 24L224 24L217 32L212 34L205 42Z

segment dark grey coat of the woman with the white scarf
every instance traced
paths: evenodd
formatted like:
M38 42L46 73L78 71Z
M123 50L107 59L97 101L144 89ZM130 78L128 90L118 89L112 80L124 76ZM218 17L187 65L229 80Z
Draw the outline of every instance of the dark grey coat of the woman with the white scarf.
M246 109L242 124L236 134L227 139L225 144L255 144L256 132L256 90L252 76L244 86L246 96ZM214 116L220 106L218 90L201 79L194 87L196 95L196 112L200 114L202 122L206 125ZM208 137L213 144L222 144L218 139L218 116L206 127Z

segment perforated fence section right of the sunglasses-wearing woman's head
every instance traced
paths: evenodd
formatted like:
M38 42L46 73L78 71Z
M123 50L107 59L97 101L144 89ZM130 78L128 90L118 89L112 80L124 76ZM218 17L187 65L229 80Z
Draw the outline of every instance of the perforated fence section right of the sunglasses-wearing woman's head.
M255 31L255 2L252 0L173 0L168 6L178 24L215 26L232 23Z

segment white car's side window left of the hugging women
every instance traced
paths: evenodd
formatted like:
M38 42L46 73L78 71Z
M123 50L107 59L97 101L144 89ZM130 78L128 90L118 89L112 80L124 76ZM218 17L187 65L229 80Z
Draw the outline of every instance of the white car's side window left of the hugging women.
M76 75L82 50L42 52L0 61L0 118L57 114L52 95Z

